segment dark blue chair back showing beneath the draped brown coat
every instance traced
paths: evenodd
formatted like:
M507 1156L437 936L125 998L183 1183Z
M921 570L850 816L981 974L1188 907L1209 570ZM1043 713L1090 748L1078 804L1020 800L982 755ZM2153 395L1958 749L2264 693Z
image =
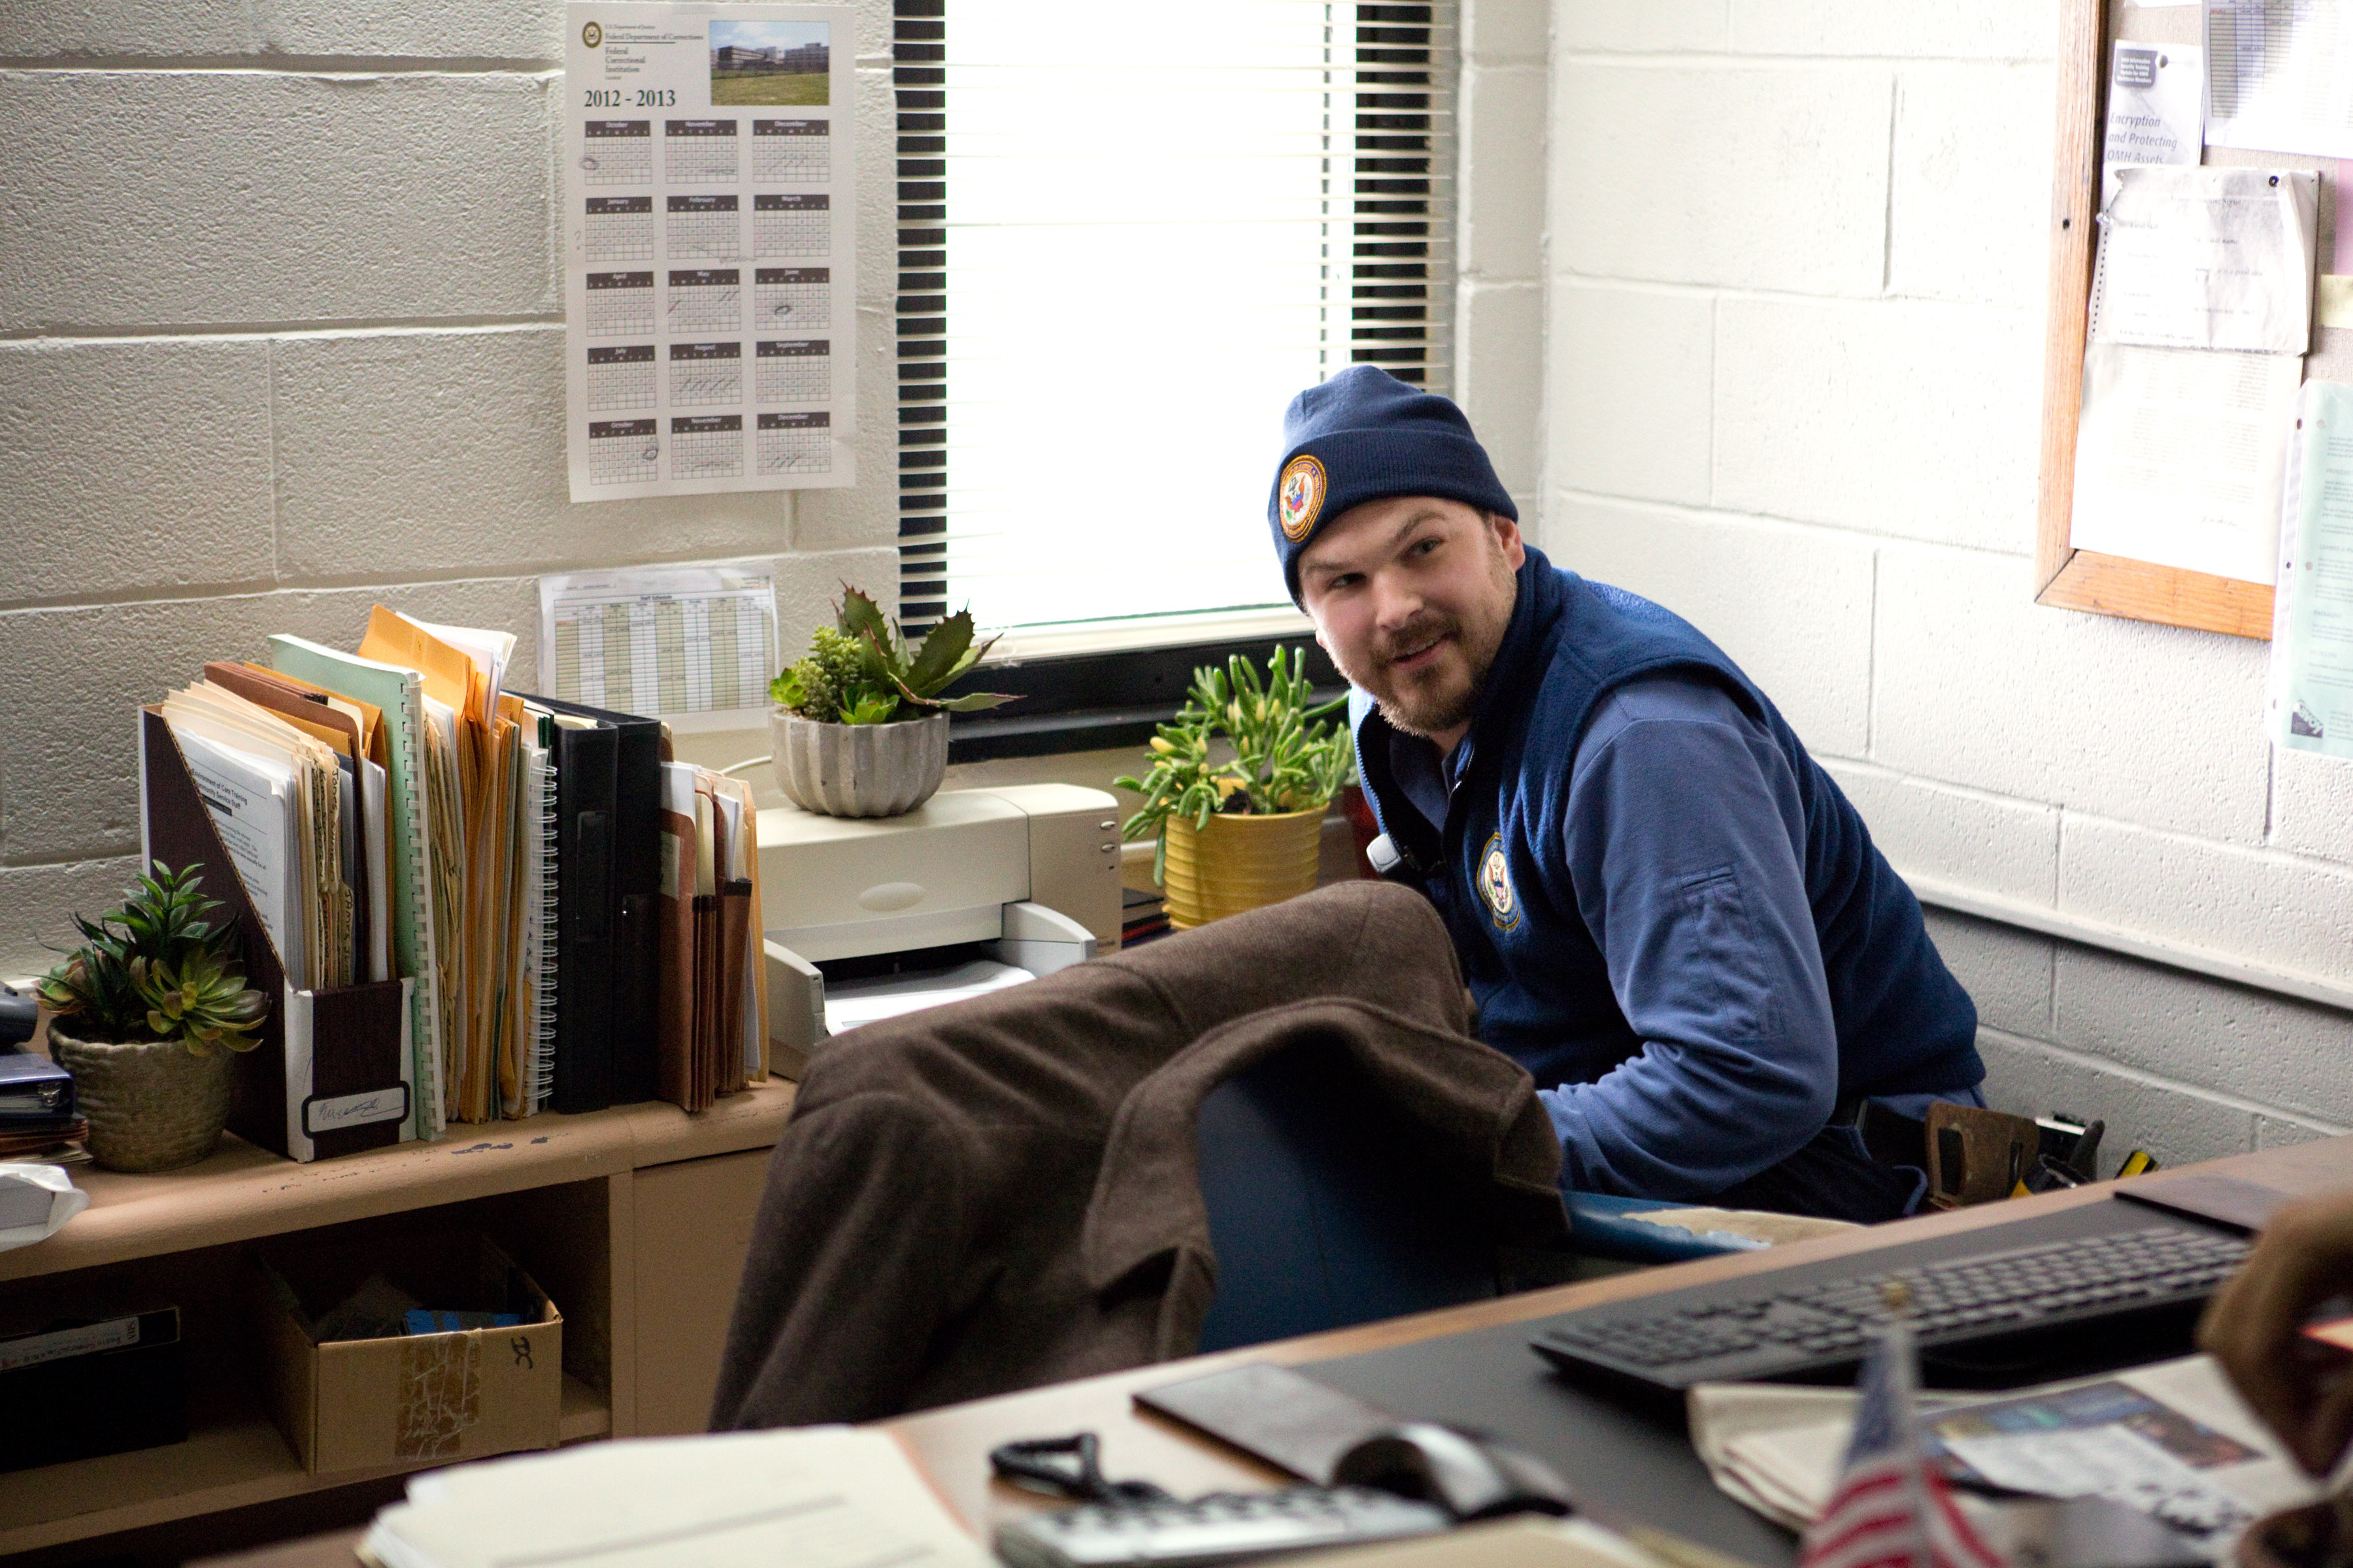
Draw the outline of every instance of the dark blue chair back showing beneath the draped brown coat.
M1202 1098L1200 1197L1217 1298L1198 1349L1233 1349L1497 1295L1485 1194L1348 1056L1299 1044Z

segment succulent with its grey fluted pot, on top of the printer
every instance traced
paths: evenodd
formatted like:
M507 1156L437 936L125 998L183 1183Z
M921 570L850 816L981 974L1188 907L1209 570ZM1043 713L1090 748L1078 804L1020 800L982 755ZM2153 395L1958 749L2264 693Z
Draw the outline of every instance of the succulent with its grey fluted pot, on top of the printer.
M972 611L960 609L908 651L899 623L847 583L833 621L816 628L807 658L767 686L776 788L821 816L913 811L948 771L948 715L1012 701L998 691L939 696L995 637L974 646Z

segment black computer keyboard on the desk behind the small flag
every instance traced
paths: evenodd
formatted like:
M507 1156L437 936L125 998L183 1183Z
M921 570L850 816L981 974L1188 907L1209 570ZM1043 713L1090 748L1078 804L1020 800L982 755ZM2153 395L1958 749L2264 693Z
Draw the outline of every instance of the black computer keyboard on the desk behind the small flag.
M1555 1366L1659 1392L1805 1378L1861 1361L1871 1326L1887 1314L1889 1281L1908 1293L1920 1347L1939 1349L2195 1305L2245 1255L2240 1237L2162 1225L1805 1284L1762 1274L1682 1307L1657 1298L1588 1307L1546 1328L1532 1349Z

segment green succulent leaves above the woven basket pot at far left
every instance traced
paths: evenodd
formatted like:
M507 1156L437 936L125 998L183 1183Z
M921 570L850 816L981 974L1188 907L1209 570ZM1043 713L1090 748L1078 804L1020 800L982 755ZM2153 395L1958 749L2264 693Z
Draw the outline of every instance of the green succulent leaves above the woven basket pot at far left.
M252 1051L271 999L245 985L235 929L207 919L219 907L202 896L198 867L174 872L158 860L122 889L120 910L73 917L82 947L42 976L42 1004L89 1039L176 1039L191 1056Z

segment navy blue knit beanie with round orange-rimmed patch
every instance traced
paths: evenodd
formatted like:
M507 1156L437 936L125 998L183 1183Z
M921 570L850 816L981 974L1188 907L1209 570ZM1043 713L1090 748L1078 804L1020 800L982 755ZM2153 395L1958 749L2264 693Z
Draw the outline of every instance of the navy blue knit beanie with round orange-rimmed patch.
M1315 529L1384 496L1440 496L1520 520L1461 409L1377 364L1351 364L1282 411L1282 465L1266 496L1266 527L1294 604L1299 555Z

